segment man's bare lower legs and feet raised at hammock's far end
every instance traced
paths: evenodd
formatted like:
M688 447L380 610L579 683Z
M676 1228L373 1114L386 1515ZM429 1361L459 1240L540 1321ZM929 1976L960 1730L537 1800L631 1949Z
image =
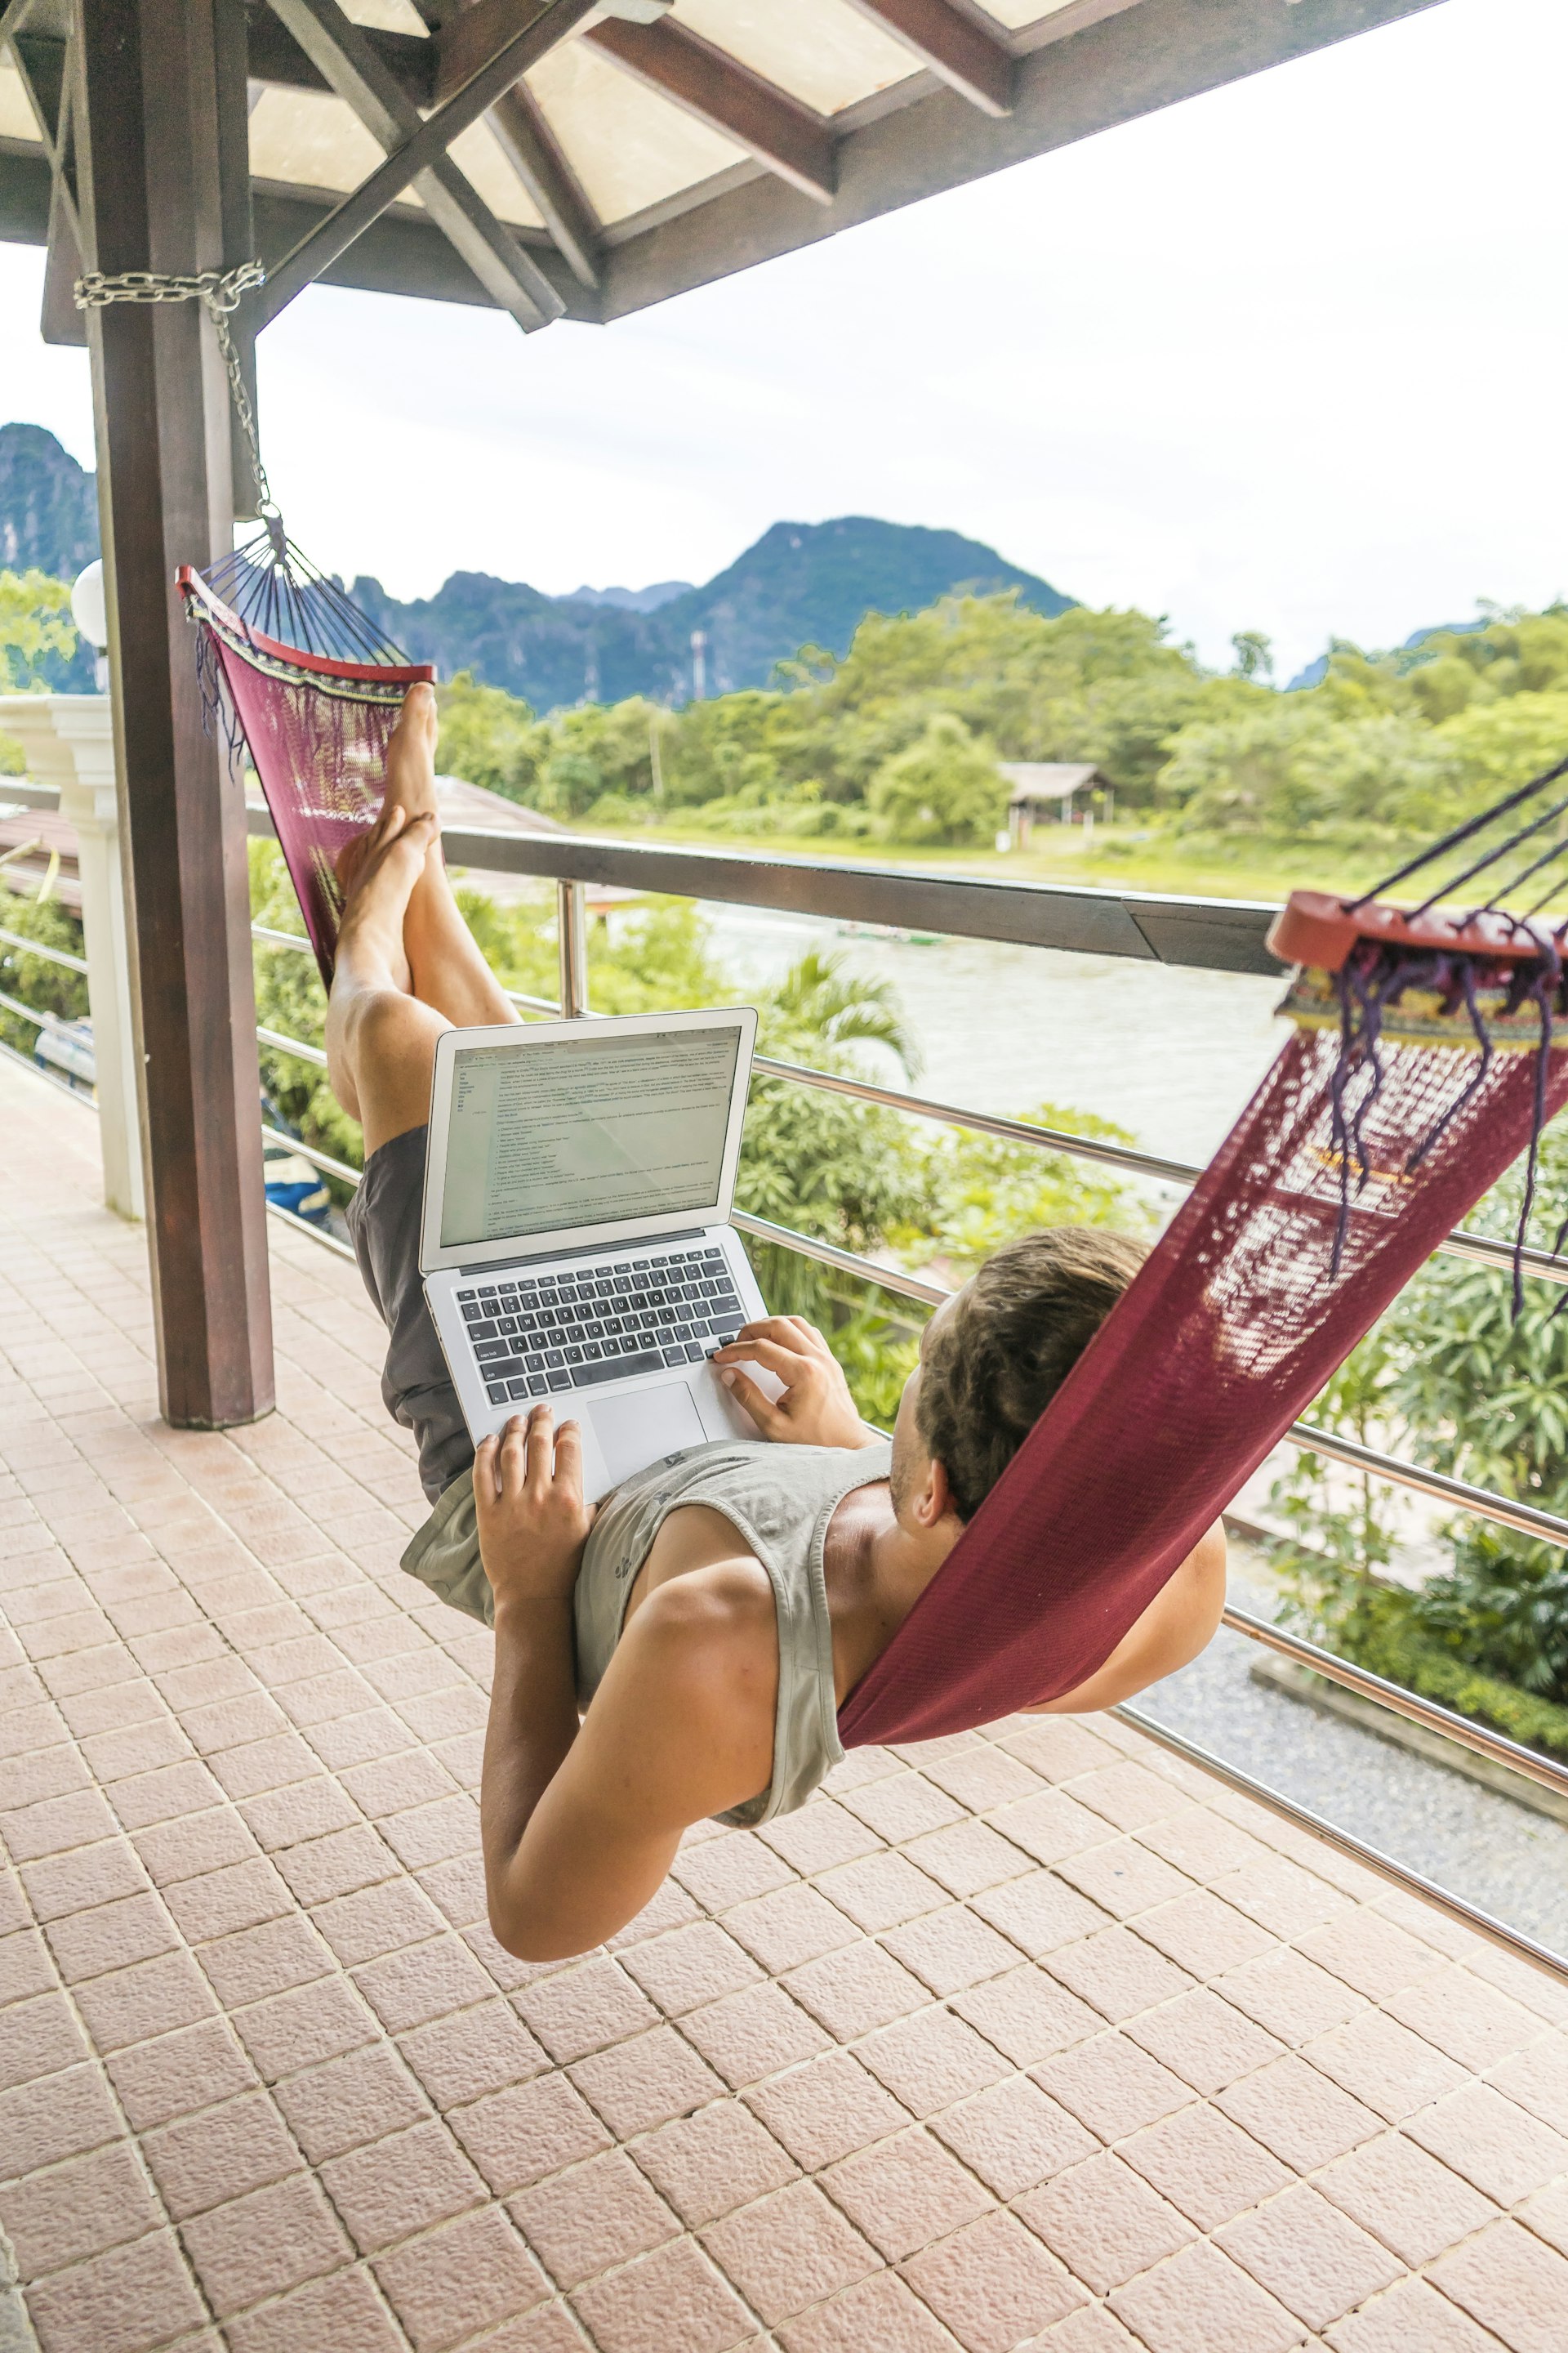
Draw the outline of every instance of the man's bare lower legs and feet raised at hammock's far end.
M411 687L388 744L386 800L343 861L346 906L327 1002L327 1075L364 1155L423 1127L435 1040L515 1021L451 896L435 812L435 694Z

